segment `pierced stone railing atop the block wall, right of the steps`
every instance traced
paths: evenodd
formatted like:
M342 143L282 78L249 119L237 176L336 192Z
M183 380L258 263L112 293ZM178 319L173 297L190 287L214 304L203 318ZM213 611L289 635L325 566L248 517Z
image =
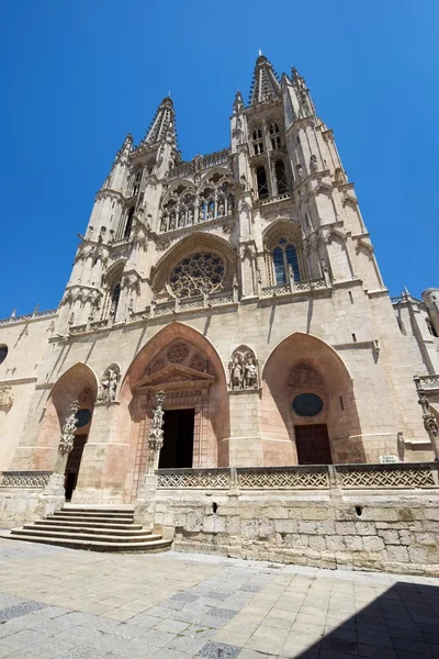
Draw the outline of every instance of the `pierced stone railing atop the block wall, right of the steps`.
M158 489L380 490L438 487L437 462L159 469Z

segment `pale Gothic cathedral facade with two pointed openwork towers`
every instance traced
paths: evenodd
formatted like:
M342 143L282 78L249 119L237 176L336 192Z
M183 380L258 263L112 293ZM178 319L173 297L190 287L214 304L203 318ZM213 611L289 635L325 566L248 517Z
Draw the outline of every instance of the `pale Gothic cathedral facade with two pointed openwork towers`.
M166 98L58 309L0 323L3 484L131 503L156 468L431 460L438 301L391 300L333 131L259 56L229 148L183 161Z

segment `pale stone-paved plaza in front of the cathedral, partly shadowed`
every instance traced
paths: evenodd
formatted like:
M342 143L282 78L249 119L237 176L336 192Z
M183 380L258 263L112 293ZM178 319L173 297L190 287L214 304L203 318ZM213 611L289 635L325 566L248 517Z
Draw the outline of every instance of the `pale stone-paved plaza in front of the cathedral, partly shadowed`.
M0 659L439 658L439 579L0 539Z

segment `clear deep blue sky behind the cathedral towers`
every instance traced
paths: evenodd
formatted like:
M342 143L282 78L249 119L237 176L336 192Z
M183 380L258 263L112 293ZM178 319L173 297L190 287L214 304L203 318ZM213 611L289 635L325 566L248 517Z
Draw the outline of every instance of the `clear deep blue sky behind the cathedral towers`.
M438 0L3 0L0 317L58 304L125 134L171 91L184 159L228 145L258 49L335 130L392 294L439 286Z

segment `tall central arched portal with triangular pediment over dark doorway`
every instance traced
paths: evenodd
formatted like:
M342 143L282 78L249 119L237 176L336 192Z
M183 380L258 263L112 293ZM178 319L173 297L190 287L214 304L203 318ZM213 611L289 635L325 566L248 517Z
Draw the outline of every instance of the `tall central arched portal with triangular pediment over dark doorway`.
M121 399L132 395L132 499L148 468L148 435L158 391L166 394L159 469L228 465L228 396L222 361L196 330L170 323L137 355L122 388Z

